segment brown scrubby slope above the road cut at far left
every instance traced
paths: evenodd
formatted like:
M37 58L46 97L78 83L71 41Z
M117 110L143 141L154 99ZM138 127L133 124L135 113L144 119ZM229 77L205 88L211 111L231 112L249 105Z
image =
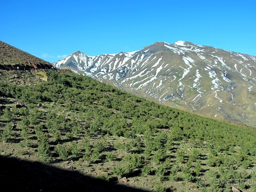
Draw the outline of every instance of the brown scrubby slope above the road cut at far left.
M0 41L0 69L50 69L52 64Z

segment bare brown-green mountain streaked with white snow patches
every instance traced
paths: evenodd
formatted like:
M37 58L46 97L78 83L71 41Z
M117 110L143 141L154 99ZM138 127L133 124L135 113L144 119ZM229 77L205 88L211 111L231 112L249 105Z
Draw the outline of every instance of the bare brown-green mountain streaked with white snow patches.
M172 107L256 126L255 56L176 41L129 53L75 52L53 65Z

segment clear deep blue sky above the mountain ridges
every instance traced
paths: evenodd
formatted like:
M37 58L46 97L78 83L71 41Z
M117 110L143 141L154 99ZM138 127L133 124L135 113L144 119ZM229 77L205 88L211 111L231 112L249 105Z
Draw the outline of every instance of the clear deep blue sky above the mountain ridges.
M0 40L49 62L177 40L256 56L255 0L1 0Z

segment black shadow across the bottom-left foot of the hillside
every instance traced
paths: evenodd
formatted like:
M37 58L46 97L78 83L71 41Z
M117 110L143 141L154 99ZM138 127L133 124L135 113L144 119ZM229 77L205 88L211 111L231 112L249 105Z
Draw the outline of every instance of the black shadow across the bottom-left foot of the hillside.
M0 156L0 186L5 191L143 191L85 176L75 170Z

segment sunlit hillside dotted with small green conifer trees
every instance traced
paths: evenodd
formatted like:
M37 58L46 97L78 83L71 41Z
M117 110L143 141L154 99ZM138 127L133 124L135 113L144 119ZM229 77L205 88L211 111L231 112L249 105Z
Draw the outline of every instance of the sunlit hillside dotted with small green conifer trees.
M256 190L255 128L156 104L69 71L38 72L1 71L2 156L144 190ZM41 82L43 74L51 81Z

